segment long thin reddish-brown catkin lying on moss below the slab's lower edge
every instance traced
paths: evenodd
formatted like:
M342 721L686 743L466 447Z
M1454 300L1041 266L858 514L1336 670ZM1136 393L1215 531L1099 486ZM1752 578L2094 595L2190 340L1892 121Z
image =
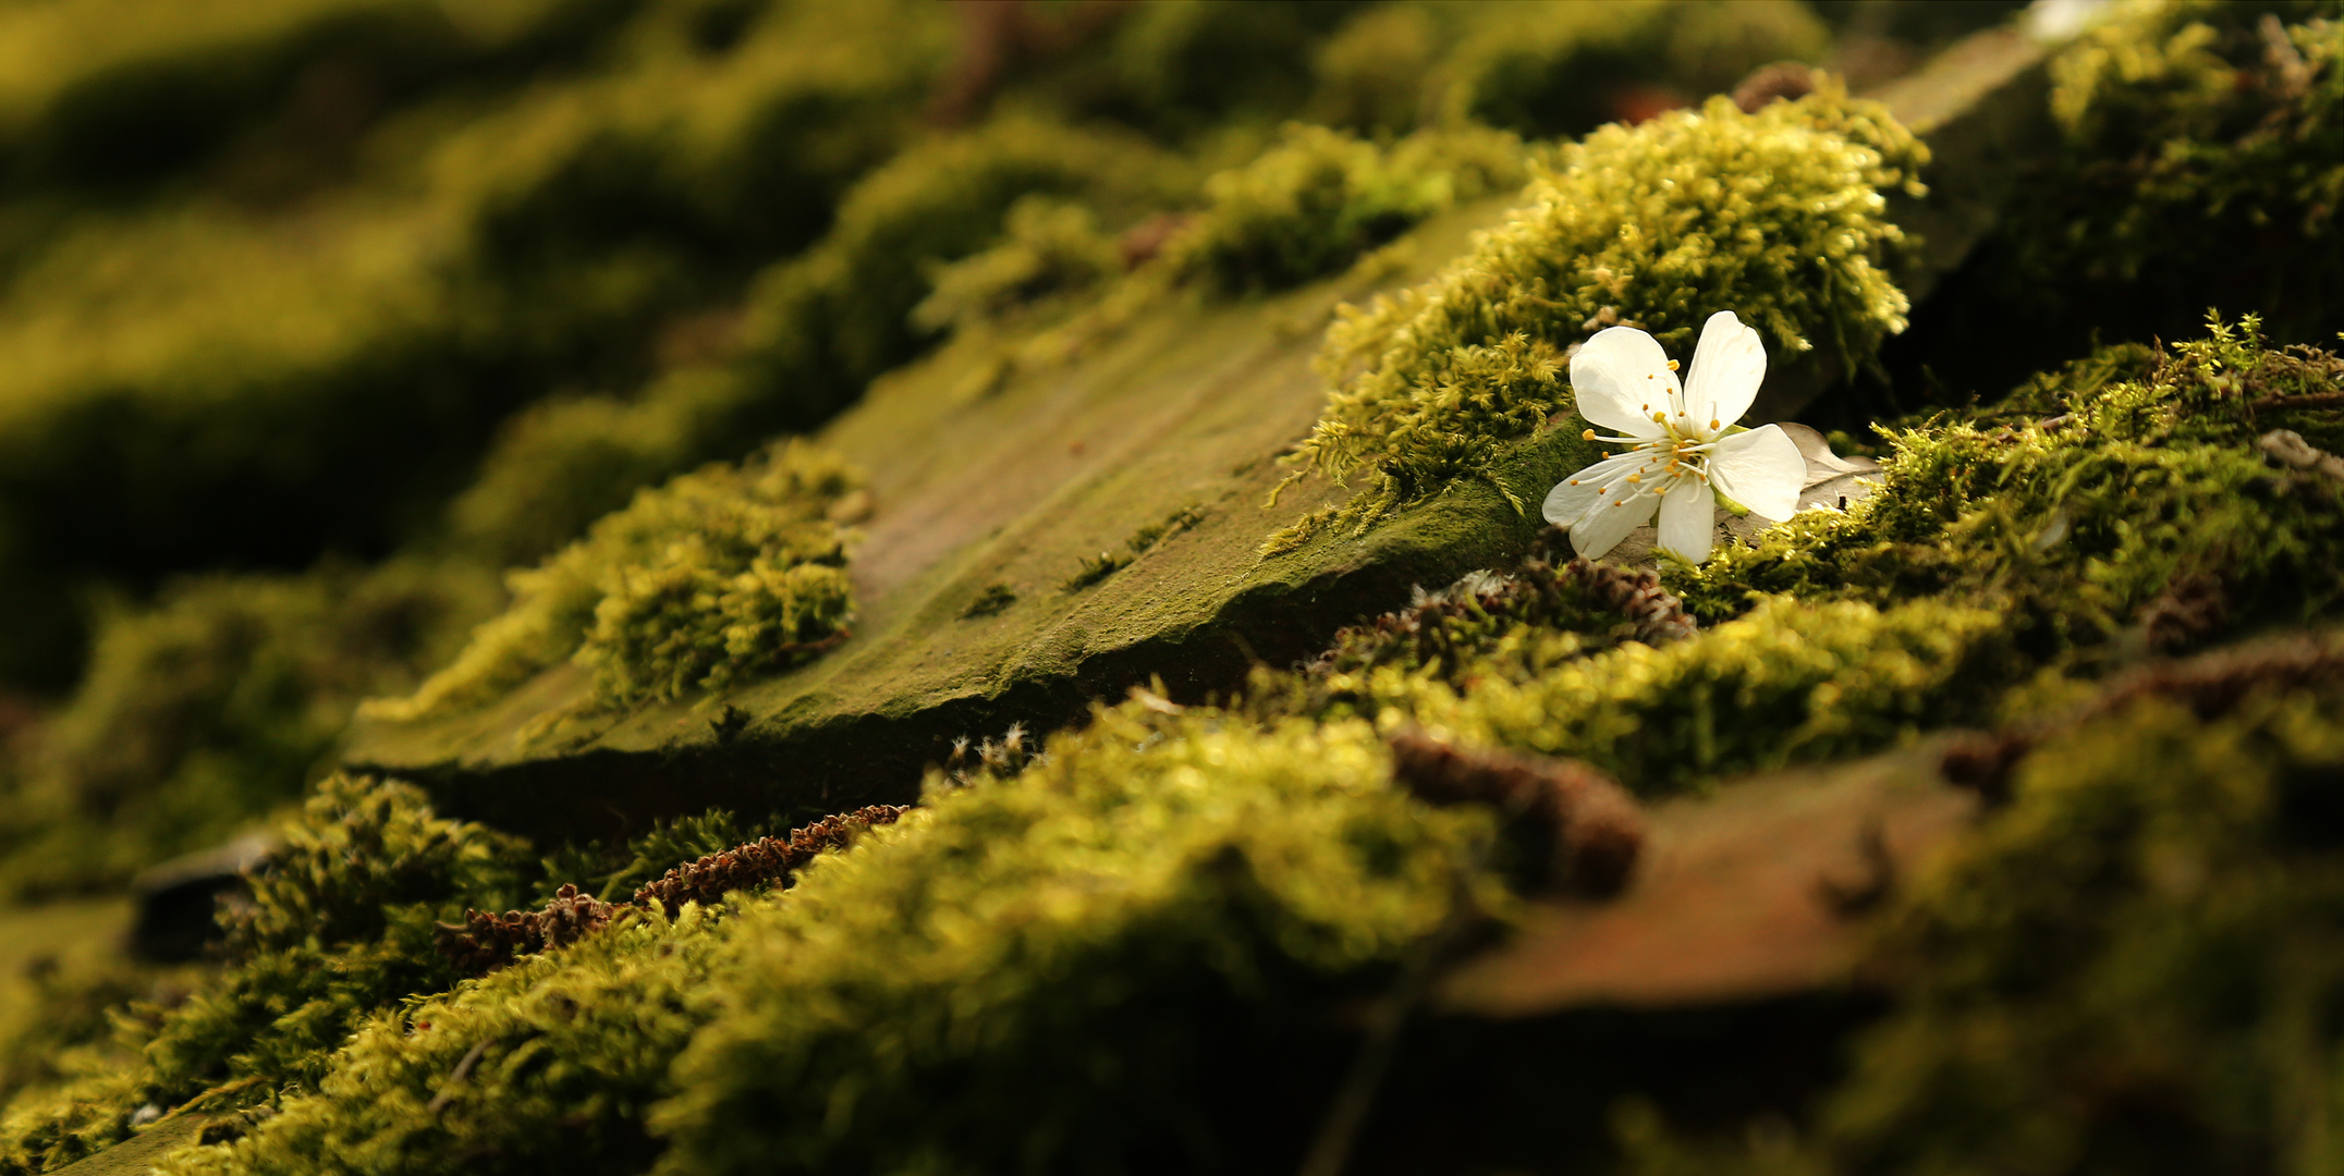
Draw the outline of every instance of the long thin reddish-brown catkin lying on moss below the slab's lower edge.
M516 956L570 946L633 909L649 909L654 902L673 918L684 902L715 902L734 890L781 886L816 855L846 848L863 829L893 825L907 811L907 806L874 804L823 818L804 829L790 829L785 839L762 836L724 853L710 853L699 862L670 869L663 878L635 890L628 902L602 902L581 895L574 883L563 883L541 911L464 911L462 923L438 925L434 944L459 972L485 977L513 963Z

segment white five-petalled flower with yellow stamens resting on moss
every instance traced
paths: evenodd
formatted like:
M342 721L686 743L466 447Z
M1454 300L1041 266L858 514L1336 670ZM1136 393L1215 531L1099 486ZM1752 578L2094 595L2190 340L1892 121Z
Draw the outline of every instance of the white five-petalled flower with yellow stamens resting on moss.
M1765 342L1720 309L1702 326L1692 370L1676 384L1669 356L1643 330L1615 326L1570 356L1580 415L1627 436L1587 440L1627 452L1573 473L1547 494L1547 522L1570 527L1570 546L1594 560L1660 513L1660 548L1702 562L1718 494L1781 522L1798 511L1807 459L1767 424L1737 429L1765 380Z

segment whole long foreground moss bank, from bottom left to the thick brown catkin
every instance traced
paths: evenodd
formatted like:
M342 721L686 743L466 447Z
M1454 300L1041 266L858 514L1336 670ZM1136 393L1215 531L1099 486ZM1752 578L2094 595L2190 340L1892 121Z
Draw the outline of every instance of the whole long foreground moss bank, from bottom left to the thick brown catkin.
M1020 775L938 780L788 893L633 916L373 1012L274 1117L164 1171L1221 1155L1210 1124L1341 1073L1327 1007L1383 991L1458 902L1503 902L1486 818L1388 775L1364 724L1109 710Z

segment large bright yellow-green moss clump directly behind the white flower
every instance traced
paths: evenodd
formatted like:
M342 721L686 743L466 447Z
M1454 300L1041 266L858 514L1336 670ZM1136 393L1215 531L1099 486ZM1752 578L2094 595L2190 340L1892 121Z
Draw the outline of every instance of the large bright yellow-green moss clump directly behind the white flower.
M1606 127L1538 169L1531 204L1470 255L1343 312L1322 354L1336 389L1299 459L1329 478L1374 471L1341 513L1360 525L1486 476L1566 408L1568 347L1608 323L1685 349L1702 319L1735 309L1777 363L1819 342L1859 363L1906 323L1887 269L1903 232L1882 211L1887 190L1917 192L1924 159L1885 108L1828 82L1756 115L1718 98Z

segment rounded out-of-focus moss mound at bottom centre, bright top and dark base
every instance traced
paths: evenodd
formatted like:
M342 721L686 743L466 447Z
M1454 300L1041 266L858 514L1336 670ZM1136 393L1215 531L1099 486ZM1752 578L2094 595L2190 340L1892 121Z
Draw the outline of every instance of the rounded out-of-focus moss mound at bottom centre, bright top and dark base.
M1120 1167L1308 1073L1289 1010L1432 932L1486 825L1392 789L1362 724L1139 715L743 918L661 1171Z

